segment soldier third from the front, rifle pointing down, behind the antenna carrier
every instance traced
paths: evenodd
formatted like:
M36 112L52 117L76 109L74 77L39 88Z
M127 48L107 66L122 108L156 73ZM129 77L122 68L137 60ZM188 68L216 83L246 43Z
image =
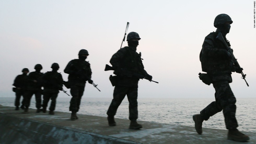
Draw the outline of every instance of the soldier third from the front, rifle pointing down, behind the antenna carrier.
M89 53L82 49L78 53L78 59L71 60L64 72L68 75L68 85L72 98L70 100L69 111L71 111L71 120L78 119L76 113L79 110L81 98L84 93L85 83L88 81L92 84L90 63L85 61Z

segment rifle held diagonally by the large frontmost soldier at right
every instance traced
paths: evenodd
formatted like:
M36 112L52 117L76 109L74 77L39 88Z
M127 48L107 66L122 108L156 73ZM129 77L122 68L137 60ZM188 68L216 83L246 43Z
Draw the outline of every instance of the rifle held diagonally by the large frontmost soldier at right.
M232 56L232 59L231 59L232 63L234 63L235 66L236 66L238 69L241 69L240 65L239 65L238 62L237 62L237 59L235 58L235 56L233 55L233 52L231 51L231 48L227 45L226 41L224 40L224 38L223 38L223 36L222 36L222 34L221 34L220 32L218 33L218 35L217 35L216 38L217 38L218 40L220 40L220 41L225 45L226 50L231 54L231 56ZM242 77L241 77L241 78L245 80L246 74L243 74L242 71L241 71L241 74L242 74ZM245 82L246 82L246 85L249 86L246 80L245 80Z

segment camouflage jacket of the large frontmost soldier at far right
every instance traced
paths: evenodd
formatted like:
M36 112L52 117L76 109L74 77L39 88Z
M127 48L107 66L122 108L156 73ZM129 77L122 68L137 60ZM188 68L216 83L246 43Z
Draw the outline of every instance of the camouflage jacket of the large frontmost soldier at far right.
M231 72L234 71L234 64L228 57L228 51L224 44L216 39L218 31L212 32L205 37L200 52L200 61L202 65L202 71L207 72L213 82L216 81L228 81L232 82ZM226 44L230 46L226 37L223 36Z

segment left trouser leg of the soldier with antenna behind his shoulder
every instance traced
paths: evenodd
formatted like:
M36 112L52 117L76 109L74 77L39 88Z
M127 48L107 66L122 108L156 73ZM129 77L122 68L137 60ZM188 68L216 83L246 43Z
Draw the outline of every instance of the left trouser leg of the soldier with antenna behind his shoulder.
M129 87L115 86L113 99L107 111L108 116L114 116L117 113L117 109L123 101L128 89Z

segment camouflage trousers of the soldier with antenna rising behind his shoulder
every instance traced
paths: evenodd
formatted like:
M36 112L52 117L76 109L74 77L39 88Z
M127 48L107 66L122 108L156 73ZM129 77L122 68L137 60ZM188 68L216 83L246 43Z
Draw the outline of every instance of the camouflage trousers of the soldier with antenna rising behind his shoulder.
M115 86L113 99L108 108L107 115L114 116L117 113L117 109L125 95L127 95L129 101L129 119L136 120L138 118L138 88L136 87Z

